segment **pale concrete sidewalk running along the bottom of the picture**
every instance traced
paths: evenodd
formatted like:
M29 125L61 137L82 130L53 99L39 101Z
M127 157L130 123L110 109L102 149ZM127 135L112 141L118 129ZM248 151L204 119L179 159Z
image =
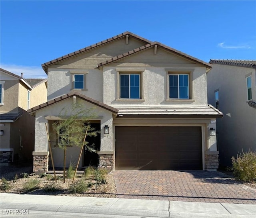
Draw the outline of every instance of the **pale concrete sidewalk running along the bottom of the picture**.
M1 216L10 209L47 214L48 217L72 213L106 217L256 217L255 204L181 202L122 198L91 198L0 193ZM50 212L50 213L49 213ZM6 215L6 217L11 217ZM95 216L96 217L96 216Z

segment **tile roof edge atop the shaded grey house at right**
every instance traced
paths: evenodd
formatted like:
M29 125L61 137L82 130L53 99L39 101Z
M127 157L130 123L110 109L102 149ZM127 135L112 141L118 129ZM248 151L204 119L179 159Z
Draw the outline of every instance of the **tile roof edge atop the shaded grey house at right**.
M222 64L231 65L237 67L249 67L256 68L256 60L221 60L221 59L210 59L211 64Z

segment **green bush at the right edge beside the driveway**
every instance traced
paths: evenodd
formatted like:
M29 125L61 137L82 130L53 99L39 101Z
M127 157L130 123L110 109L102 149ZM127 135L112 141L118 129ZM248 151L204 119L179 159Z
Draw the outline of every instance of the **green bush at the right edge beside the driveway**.
M256 180L256 152L251 149L244 153L238 153L237 157L232 157L232 167L234 176L242 181L250 182Z

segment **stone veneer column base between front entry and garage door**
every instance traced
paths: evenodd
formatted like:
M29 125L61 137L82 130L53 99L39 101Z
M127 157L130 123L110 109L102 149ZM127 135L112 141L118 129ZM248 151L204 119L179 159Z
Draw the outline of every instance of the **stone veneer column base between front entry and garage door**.
M98 151L99 168L114 170L115 157L114 151Z

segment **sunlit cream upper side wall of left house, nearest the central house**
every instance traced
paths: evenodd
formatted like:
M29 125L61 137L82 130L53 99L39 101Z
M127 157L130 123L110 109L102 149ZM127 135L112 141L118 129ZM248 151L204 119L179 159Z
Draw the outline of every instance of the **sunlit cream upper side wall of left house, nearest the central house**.
M30 108L47 102L46 82L41 83L30 91Z

